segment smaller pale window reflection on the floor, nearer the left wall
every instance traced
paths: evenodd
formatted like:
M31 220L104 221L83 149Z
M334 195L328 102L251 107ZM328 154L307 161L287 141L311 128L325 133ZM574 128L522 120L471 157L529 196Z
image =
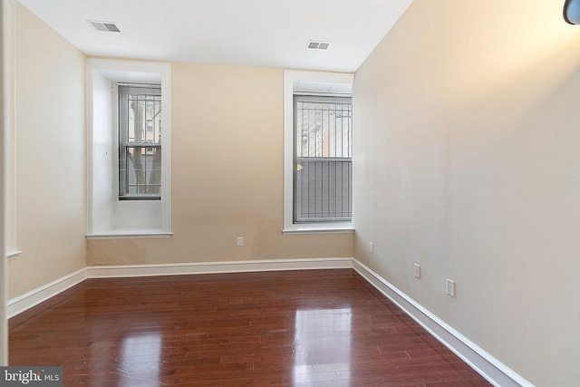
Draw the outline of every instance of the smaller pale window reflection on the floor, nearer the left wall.
M147 382L150 385L159 384L161 335L140 333L125 337L116 363L122 376L120 385L136 381Z

